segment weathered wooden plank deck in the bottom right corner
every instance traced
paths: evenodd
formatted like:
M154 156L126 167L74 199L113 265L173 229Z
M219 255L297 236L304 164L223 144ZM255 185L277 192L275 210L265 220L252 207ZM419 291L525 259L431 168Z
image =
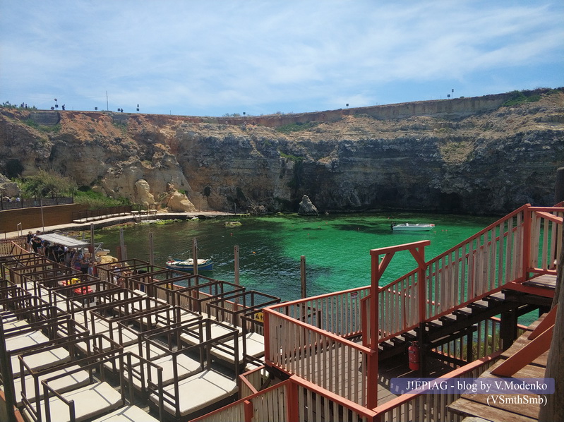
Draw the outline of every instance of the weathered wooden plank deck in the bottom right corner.
M527 337L529 337L532 330L539 325L545 316L546 314L530 325L527 331L515 340L509 349L503 352L500 356L500 361L486 370L479 378L498 378L491 371L531 342ZM548 351L517 371L512 378L544 378L547 358ZM449 409L460 414L476 416L492 422L537 421L540 405L535 402L539 395L519 394L518 396L517 394L462 394L460 399L450 404ZM533 403L526 403L527 401Z

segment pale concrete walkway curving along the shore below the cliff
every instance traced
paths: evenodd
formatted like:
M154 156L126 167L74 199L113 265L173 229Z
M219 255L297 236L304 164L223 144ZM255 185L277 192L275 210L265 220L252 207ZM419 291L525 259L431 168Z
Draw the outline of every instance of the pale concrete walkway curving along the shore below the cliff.
M101 229L102 227L114 226L115 224L123 224L128 222L138 222L139 218L141 221L155 220L155 219L191 219L191 218L215 218L215 217L236 217L241 214L234 214L232 212L222 212L222 211L196 211L196 212L161 212L157 214L150 215L122 215L120 217L109 217L106 219L98 219L93 222L85 223L68 223L59 224L56 226L45 226L43 227L32 227L30 229L24 229L21 234L26 236L28 231L39 230L44 233L54 233L57 231L78 231L78 230L90 230L90 225L92 224L95 229ZM20 236L18 231L8 231L4 234L6 239L15 239Z

